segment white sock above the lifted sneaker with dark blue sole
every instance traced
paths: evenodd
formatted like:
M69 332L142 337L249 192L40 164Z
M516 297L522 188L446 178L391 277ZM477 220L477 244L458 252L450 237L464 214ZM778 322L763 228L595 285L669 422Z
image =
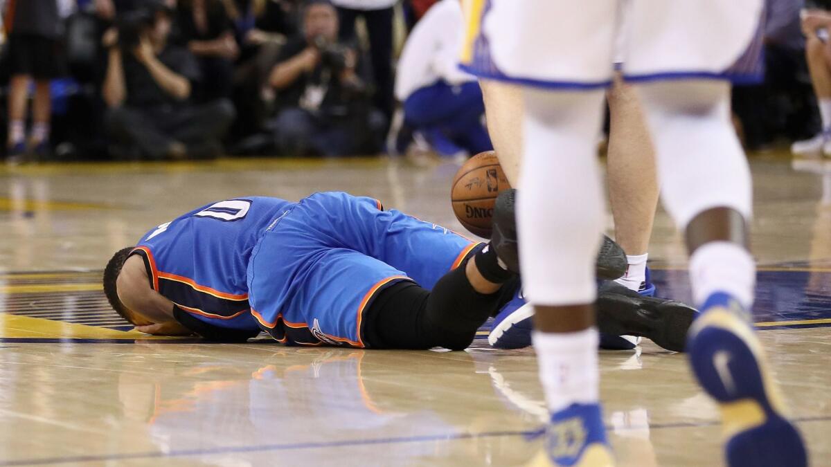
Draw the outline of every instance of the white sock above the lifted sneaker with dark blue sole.
M710 242L690 257L692 297L701 305L713 292L727 292L745 309L753 304L756 263L738 243Z

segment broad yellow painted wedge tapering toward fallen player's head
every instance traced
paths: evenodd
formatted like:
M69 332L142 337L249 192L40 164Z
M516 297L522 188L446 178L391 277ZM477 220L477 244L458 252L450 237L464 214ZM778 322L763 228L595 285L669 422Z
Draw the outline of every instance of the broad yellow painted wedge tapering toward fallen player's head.
M0 337L32 337L42 339L170 339L148 336L138 331L116 331L39 317L23 317L0 313Z

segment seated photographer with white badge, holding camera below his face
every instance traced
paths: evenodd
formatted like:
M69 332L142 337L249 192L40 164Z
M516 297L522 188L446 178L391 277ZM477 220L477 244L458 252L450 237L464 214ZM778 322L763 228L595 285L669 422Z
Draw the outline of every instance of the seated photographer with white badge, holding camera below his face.
M307 2L303 37L283 47L269 82L282 104L278 147L286 155L378 152L385 119L371 108L356 74L355 49L337 40L337 11L327 0Z

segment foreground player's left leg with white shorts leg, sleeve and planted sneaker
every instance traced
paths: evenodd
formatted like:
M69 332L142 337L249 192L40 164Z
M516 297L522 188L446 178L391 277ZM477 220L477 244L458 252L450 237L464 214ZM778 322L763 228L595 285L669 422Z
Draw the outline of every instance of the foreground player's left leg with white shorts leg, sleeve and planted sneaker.
M546 448L534 463L612 465L597 399L592 303L603 228L594 141L602 86L612 75L615 2L472 3L464 66L484 78L579 90L523 91L519 253L551 412Z

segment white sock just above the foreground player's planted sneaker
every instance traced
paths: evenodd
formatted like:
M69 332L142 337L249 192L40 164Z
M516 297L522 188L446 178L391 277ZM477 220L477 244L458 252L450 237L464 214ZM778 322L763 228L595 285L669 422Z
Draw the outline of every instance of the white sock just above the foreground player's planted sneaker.
M600 384L597 329L563 333L534 331L532 337L548 409L556 412L575 402L597 404Z

